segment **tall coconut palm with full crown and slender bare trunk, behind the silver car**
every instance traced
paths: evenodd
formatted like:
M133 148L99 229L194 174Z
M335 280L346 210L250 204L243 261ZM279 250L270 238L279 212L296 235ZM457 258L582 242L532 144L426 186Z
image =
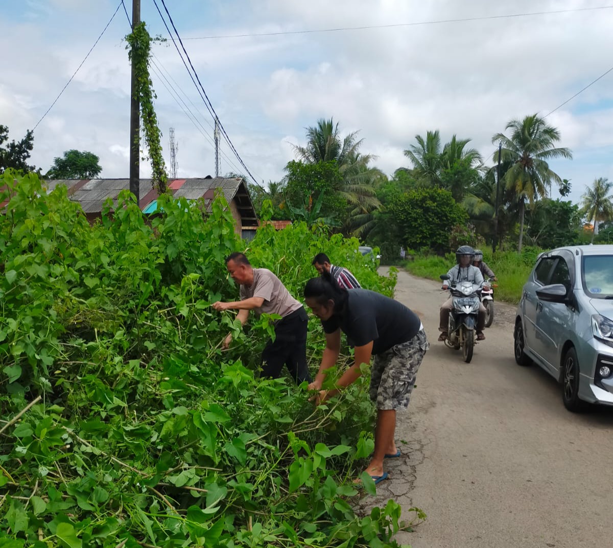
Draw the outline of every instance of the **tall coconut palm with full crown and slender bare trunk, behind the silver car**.
M524 119L513 119L506 124L505 130L511 130L509 137L504 133L496 133L492 143L502 144L501 158L512 163L504 175L504 182L509 189L514 190L519 203L519 244L521 252L524 239L525 203L532 204L538 198L546 197L551 182L562 184L562 178L549 169L547 160L554 158L572 158L568 148L555 148L560 140L560 132L553 126L548 126L543 118L531 114ZM498 151L494 154L494 162L498 161Z

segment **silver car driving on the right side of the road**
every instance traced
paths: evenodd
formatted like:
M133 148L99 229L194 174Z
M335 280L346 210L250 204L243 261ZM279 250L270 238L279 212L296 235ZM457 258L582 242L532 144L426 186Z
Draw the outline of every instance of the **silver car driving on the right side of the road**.
M524 285L515 360L535 362L562 386L569 411L613 405L613 246L571 246L539 255Z

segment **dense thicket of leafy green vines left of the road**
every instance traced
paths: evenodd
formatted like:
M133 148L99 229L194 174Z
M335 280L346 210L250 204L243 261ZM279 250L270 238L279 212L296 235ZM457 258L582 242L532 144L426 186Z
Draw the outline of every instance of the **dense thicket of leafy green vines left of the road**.
M0 186L0 202L10 199L0 222L2 546L395 545L400 506L356 516L348 501L373 448L367 375L313 408L304 385L255 374L270 318L243 331L210 307L237 295L224 264L235 250L297 296L319 251L391 295L394 273L378 276L357 239L297 223L263 227L245 249L221 197L205 214L162 195L162 213L145 219L128 192L90 227L66 187L47 195L36 175L12 171ZM235 344L222 351L228 331ZM322 346L311 318L312 367Z

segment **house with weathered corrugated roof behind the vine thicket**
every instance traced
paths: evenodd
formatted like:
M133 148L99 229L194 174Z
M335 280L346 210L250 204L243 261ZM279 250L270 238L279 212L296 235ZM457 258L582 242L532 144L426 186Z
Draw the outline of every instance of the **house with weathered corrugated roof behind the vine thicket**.
M102 216L104 202L111 198L116 203L121 190L130 189L129 179L49 179L44 181L47 190L53 190L59 184L68 187L68 197L77 201L83 208L89 222ZM204 179L169 179L167 182L174 197L184 197L187 200L204 198L207 210L215 198L215 190L220 189L230 206L234 217L235 232L244 236L244 231L250 235L257 228L257 215L249 190L242 178L226 178L207 176ZM140 179L139 205L144 213L153 213L158 207L158 191L152 188L151 179Z

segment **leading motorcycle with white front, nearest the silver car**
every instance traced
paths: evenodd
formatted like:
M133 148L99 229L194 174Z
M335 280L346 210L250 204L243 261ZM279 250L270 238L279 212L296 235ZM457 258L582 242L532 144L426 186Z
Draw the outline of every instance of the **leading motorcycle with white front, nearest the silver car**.
M441 274L441 280L449 280L447 274ZM459 350L466 363L473 359L477 315L479 313L479 292L474 291L472 282L452 283L449 287L452 296L452 309L447 326L445 344Z

